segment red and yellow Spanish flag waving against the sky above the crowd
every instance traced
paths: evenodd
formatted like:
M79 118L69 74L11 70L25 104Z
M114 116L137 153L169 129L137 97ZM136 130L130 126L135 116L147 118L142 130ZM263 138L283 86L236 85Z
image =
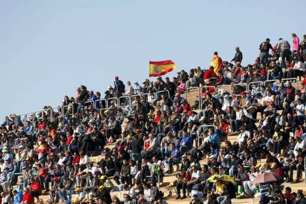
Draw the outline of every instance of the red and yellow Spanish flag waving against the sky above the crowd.
M171 60L149 62L149 76L162 76L171 72L176 66Z

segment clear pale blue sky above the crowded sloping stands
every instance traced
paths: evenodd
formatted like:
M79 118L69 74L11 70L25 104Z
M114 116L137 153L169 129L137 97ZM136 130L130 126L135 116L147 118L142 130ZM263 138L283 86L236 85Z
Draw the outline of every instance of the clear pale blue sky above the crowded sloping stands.
M0 117L60 105L81 84L104 93L115 75L142 82L149 60L208 68L214 51L228 61L240 46L243 65L253 63L267 37L301 39L305 9L305 1L0 0Z

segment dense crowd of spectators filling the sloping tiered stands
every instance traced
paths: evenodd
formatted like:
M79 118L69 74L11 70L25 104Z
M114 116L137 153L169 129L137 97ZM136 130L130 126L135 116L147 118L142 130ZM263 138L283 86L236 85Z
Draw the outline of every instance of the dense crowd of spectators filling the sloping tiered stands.
M269 183L262 203L306 203L302 192L282 189L284 181L302 180L306 82L300 89L294 80L252 84L249 90L242 85L304 77L306 35L292 38L292 46L282 38L272 46L267 38L251 65L236 47L234 64L223 61L217 70L197 67L177 72L172 81L158 77L134 86L115 76L106 100L81 85L58 111L45 106L24 121L7 116L0 128L2 203L42 202L39 196L46 194L49 203L162 204L159 185L171 174L176 199L223 204L261 192L252 180L265 172L282 179ZM233 84L232 92L213 88ZM181 95L191 87L201 88L192 105ZM235 134L236 141L228 139ZM208 161L201 164L203 159ZM235 182L208 182L215 174ZM111 197L112 191L126 191L124 200Z

